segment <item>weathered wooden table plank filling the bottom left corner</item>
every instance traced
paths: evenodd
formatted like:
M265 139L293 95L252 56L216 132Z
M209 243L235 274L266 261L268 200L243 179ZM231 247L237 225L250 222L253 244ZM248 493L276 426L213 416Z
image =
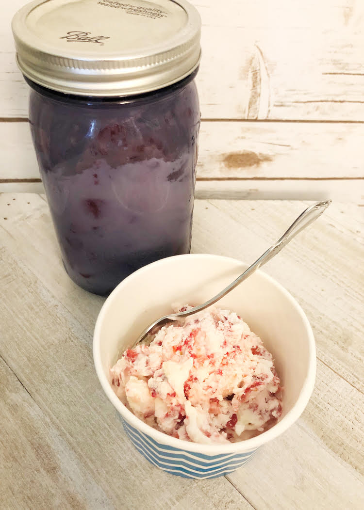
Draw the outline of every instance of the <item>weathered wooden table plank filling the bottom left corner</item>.
M1 357L0 385L1 507L114 508Z

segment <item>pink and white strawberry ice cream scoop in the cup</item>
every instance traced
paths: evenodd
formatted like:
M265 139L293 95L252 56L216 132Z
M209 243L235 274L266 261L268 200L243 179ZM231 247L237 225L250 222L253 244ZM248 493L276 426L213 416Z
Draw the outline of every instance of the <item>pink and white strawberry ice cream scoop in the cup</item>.
M272 354L236 313L215 307L163 326L150 345L126 350L110 375L138 418L187 441L247 439L282 414Z

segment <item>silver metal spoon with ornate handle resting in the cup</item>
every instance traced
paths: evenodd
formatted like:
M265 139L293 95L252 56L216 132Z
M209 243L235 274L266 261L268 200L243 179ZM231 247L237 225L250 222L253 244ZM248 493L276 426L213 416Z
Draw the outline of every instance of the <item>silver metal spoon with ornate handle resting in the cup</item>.
M257 259L254 264L252 264L248 269L244 271L240 276L238 276L230 285L228 285L225 289L223 289L219 294L216 294L214 297L209 299L203 304L199 304L197 307L191 308L190 310L186 310L184 312L178 312L176 314L165 315L160 319L154 321L150 324L144 331L139 335L137 341L134 343L133 347L135 347L139 342L144 340L144 338L151 332L151 330L155 326L163 326L167 322L178 321L180 318L187 317L188 315L196 314L197 312L201 312L201 310L205 310L205 308L209 307L211 304L214 304L216 301L219 301L222 297L226 296L228 292L235 289L241 282L244 282L249 276L251 276L259 267L266 264L268 261L273 259L277 253L289 243L291 239L293 239L301 230L306 228L312 221L316 220L330 205L331 200L325 200L323 202L317 202L313 206L308 207L301 213L298 218L290 225L288 230L283 234L283 236L278 239L278 241L273 244L268 250L264 251L264 253Z

